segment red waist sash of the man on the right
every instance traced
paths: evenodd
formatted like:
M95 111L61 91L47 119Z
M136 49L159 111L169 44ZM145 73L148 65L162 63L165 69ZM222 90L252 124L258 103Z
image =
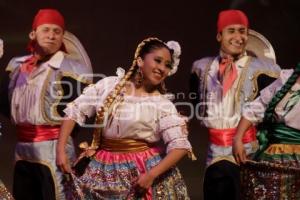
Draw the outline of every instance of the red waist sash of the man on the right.
M210 142L219 146L232 146L232 140L236 133L236 128L228 129L209 129ZM250 127L243 137L243 143L249 143L256 140L256 128Z

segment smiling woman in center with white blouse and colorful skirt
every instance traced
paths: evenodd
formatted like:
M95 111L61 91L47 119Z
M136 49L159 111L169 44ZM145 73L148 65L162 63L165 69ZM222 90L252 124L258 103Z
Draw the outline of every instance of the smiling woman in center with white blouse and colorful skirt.
M189 199L175 164L187 153L186 120L165 94L164 79L177 70L180 46L157 38L142 41L125 74L88 87L66 110L57 165L71 173L70 199ZM65 153L75 122L96 112L91 161L81 176L72 173ZM160 142L160 141L163 142ZM96 153L94 154L94 152Z

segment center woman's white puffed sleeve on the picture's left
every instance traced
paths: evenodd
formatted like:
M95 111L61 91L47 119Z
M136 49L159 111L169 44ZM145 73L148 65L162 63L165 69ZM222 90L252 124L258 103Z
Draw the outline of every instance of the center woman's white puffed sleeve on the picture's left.
M86 117L93 116L96 109L103 105L105 97L115 84L116 78L108 77L87 86L77 99L67 104L64 110L66 116L83 125Z

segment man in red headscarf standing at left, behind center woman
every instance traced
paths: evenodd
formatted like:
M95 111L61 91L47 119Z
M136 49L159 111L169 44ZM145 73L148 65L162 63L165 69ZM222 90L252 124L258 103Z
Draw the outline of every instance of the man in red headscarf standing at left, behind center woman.
M9 72L10 115L17 126L13 196L17 200L65 199L56 143L64 105L91 82L91 68L67 56L65 23L54 9L36 14L30 55L13 58ZM85 76L87 75L87 76ZM70 138L67 152L74 159Z

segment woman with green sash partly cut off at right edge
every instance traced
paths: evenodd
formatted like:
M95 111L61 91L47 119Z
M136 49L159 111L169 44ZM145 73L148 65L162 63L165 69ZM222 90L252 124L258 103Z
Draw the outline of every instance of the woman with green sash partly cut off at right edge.
M252 123L262 122L258 135L260 149L256 153L256 159L260 161L258 165L280 168L276 175L271 172L274 168L264 168L268 172L260 173L257 179L260 182L249 180L253 184L247 187L252 187L252 191L244 191L245 195L263 199L300 199L299 114L300 64L295 70L282 70L280 77L265 88L259 98L244 107L234 139L236 161L245 163L247 159L242 144L243 134Z

